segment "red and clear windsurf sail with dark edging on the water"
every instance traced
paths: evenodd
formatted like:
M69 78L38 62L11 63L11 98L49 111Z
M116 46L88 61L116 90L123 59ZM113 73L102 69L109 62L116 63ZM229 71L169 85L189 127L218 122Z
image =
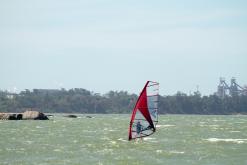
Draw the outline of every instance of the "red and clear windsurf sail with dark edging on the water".
M145 84L132 112L129 140L149 136L155 132L158 122L158 85L151 81Z

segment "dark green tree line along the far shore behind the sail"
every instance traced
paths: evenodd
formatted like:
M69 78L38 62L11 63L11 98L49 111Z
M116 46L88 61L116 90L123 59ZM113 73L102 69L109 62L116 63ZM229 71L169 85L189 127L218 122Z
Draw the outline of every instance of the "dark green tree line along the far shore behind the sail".
M23 112L27 108L45 113L131 113L138 96L126 91L104 95L86 89L25 90L19 94L0 91L0 112ZM159 97L160 114L247 114L247 96L201 96L178 92Z

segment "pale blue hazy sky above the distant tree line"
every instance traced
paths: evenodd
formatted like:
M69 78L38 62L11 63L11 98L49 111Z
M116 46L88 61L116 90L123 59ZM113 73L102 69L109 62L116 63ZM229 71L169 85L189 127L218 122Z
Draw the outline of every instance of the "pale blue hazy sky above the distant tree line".
M0 89L247 84L246 0L1 0Z

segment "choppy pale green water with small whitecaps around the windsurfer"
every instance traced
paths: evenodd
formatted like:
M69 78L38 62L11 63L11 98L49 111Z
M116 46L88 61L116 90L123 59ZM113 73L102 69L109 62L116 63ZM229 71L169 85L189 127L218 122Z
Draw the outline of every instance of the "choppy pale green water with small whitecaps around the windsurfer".
M127 141L129 115L0 121L1 165L245 165L247 116L164 115Z

